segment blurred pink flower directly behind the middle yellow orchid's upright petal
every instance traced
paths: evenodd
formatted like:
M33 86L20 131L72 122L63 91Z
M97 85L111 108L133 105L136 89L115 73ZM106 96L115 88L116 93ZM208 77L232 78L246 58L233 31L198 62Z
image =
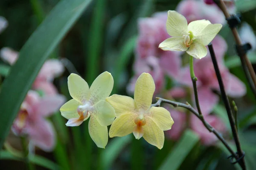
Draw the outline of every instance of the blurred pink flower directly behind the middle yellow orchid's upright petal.
M159 93L161 89L163 89L164 84L164 75L163 71L160 68L159 65L159 59L153 56L150 56L145 59L136 59L134 63L134 72L135 75L133 78L131 78L129 84L127 85L127 91L129 94L134 93L135 89L135 83L137 81L137 78L143 73L147 72L150 73L154 79L155 82L155 94Z

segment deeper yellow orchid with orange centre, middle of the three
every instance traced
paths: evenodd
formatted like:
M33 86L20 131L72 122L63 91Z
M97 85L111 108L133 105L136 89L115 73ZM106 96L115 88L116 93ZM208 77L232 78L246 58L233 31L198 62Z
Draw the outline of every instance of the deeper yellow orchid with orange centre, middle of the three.
M136 139L143 137L149 144L163 148L163 130L170 130L174 121L163 107L151 107L155 84L152 76L142 73L137 79L134 99L112 95L106 99L116 111L116 119L109 136L125 136L133 133Z

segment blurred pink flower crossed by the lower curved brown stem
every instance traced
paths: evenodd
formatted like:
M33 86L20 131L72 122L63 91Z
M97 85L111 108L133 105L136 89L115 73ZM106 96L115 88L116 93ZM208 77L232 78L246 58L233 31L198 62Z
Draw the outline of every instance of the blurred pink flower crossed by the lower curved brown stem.
M195 115L191 115L191 129L194 130L201 138L201 142L204 145L212 145L218 140L218 138L210 133L209 130L204 126L199 118ZM205 115L205 120L212 125L218 132L225 134L227 133L227 129L225 127L224 122L215 115Z

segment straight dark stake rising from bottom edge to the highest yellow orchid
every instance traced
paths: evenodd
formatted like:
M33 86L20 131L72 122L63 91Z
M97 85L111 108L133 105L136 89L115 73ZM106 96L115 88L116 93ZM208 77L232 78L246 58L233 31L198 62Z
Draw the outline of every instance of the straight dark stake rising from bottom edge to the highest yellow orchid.
M240 144L240 141L239 141L239 137L238 137L238 133L237 133L237 129L236 129L236 124L235 124L234 117L233 117L233 114L232 114L232 111L231 111L229 100L227 98L227 93L226 93L225 88L224 88L224 84L223 84L222 77L221 77L221 72L220 72L219 67L218 67L218 62L217 62L212 44L209 44L208 48L209 48L209 52L211 54L212 63L213 63L214 69L215 69L217 79L218 79L218 84L220 86L221 97L222 97L222 100L223 100L223 102L225 104L225 107L226 107L226 110L227 110L228 119L230 121L231 130L232 130L232 133L233 133L233 136L234 136L234 141L236 143L236 149L237 149L239 157L241 157L241 156L244 155L244 153L241 149L241 144ZM240 164L240 166L243 170L246 169L245 162L244 162L244 157L241 158L241 161L239 161L239 164Z

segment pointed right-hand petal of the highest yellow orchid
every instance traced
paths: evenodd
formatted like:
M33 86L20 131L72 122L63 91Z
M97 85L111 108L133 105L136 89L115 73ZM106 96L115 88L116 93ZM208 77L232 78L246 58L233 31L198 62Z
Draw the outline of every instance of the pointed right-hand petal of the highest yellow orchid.
M196 40L204 46L207 46L221 30L221 27L222 25L219 23L207 25L196 37Z

